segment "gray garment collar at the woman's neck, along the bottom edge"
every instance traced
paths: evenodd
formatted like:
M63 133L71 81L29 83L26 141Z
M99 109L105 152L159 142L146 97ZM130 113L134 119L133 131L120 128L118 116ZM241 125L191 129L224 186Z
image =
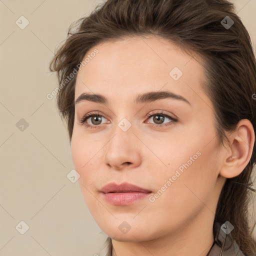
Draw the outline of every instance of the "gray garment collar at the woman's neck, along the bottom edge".
M215 222L215 239L206 256L245 256L239 249L236 241L232 239L230 230L224 222L220 225L220 222ZM107 237L99 256L111 256L112 255L112 242L111 238Z

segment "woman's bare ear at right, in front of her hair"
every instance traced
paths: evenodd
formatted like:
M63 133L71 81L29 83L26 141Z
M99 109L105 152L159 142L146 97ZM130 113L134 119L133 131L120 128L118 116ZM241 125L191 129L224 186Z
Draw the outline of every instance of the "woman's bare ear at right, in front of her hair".
M240 120L235 131L228 135L229 145L224 151L219 174L226 178L239 175L248 164L255 141L254 129L248 119Z

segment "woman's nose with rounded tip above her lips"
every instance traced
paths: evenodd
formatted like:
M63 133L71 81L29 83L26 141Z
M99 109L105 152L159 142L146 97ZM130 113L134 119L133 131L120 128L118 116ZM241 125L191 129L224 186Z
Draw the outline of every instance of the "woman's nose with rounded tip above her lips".
M105 147L105 163L116 170L135 168L141 163L139 139L132 128L123 131L117 125ZM141 142L140 142L141 143ZM141 145L142 146L142 145Z

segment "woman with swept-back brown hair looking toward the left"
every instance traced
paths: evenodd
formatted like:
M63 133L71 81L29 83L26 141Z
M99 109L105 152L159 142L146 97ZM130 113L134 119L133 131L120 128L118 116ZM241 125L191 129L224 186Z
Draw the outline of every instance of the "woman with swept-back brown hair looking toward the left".
M255 256L256 65L233 5L107 0L71 29L50 70L105 255Z

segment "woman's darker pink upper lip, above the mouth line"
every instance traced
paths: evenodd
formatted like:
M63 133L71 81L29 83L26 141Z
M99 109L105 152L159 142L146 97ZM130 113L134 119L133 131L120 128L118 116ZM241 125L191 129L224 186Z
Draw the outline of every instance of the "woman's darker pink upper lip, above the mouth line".
M114 182L108 183L100 189L100 192L109 193L109 192L144 192L148 193L151 190L136 186L134 184L130 184L127 182L123 182L121 184L116 184Z

